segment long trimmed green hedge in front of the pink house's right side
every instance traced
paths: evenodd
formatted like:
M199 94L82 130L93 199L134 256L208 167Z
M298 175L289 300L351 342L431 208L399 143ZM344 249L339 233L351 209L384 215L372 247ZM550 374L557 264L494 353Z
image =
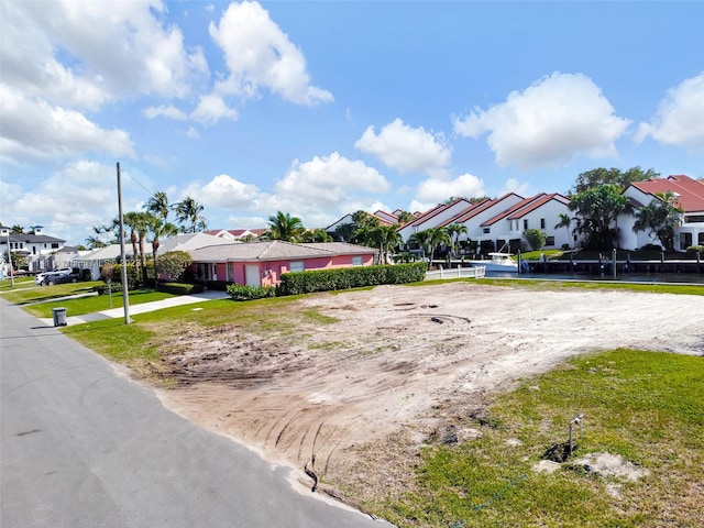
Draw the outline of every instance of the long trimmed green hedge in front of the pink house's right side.
M417 283L426 277L428 264L414 262L393 266L356 266L311 272L283 273L277 296L333 292L381 284Z

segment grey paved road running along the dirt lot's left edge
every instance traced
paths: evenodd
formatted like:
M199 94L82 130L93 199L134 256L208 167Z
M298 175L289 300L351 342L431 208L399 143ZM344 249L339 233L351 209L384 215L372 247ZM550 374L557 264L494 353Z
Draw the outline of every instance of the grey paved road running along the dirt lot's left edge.
M0 526L382 527L0 300Z

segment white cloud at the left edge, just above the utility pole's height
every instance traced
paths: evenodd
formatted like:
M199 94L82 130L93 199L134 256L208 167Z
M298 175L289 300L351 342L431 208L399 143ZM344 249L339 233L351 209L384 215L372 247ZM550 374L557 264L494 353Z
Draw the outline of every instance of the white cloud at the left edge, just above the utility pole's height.
M85 152L134 155L123 130L101 129L78 111L30 100L6 86L0 86L0 113L3 158L64 157Z

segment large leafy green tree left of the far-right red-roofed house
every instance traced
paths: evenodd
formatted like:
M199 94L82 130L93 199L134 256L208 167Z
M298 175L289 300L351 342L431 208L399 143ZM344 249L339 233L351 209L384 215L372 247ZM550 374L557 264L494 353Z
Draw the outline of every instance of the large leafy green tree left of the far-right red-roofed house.
M590 250L610 250L618 232L612 228L628 200L615 185L602 185L578 193L570 201L570 210L576 211L575 231L584 238Z

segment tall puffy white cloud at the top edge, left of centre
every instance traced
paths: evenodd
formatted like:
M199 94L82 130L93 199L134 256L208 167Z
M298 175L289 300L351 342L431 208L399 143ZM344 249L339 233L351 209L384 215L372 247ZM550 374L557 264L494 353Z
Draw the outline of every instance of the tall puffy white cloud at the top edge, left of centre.
M332 101L310 84L306 58L257 2L232 2L210 36L223 53L229 77L218 82L223 95L255 97L261 87L299 105Z

